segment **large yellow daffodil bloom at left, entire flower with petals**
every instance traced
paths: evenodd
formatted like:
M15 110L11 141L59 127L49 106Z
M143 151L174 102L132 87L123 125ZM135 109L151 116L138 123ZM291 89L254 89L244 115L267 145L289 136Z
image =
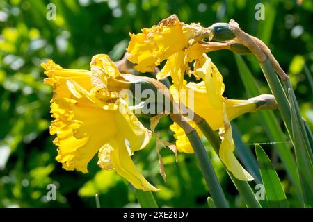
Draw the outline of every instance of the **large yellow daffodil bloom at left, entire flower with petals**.
M67 170L87 173L98 153L99 167L115 170L136 189L157 191L138 171L131 155L150 141L151 132L118 96L120 72L106 55L93 56L91 71L63 69L51 60L42 64L54 88L50 126L58 146L56 160ZM113 86L111 89L110 86Z

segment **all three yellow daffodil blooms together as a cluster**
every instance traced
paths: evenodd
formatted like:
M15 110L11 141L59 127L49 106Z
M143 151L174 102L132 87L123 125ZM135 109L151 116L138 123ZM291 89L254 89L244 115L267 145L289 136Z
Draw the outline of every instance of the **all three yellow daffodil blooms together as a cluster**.
M205 54L207 47L202 47L204 39L211 40L211 29L200 24L184 24L172 15L157 26L143 28L141 33L130 34L130 37L128 60L135 64L134 69L154 71L166 60L157 78L172 77L172 98L177 103L185 103L211 128L220 131L219 156L227 169L239 180L253 180L234 155L230 120L253 112L257 107L250 100L223 96L223 77ZM193 67L189 67L190 62ZM56 160L63 164L63 168L87 173L88 162L98 153L98 164L102 169L115 170L136 189L157 191L131 160L135 151L150 142L151 132L138 121L120 96L119 92L129 89L130 83L109 56L93 56L90 70L63 69L52 60L43 63L42 67L48 76L45 83L54 89L51 99L54 120L50 133L56 135ZM186 83L185 74L193 74L201 81ZM193 105L188 103L189 92L193 95ZM180 101L182 96L186 98L183 102ZM193 119L188 122L202 135ZM184 130L177 123L173 123L170 129L175 133L178 151L193 153Z

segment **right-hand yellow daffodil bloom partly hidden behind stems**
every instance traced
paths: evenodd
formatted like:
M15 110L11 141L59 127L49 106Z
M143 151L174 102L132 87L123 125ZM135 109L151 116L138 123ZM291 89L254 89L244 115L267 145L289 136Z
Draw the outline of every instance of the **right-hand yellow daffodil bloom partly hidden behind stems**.
M190 94L194 96L193 105L190 105L188 108L204 118L213 130L220 129L220 137L222 139L219 150L220 160L222 160L227 169L239 180L253 180L252 176L243 169L234 156L234 142L232 139L230 120L246 112L257 110L257 105L255 101L252 100L232 100L223 97L225 89L223 77L216 66L211 62L211 59L205 54L203 56L205 62L202 67L195 70L203 81L200 83L184 84L185 90L176 90L175 87L172 86L170 89L171 93L176 101L178 101L179 93L186 94L186 96L181 96L181 98L186 98L186 100L182 102L185 102L185 105L188 107L190 105L188 104L188 91L193 92ZM190 123L191 126L202 135L195 123L191 120ZM185 153L193 153L193 148L188 142L184 130L180 128L177 123L170 126L170 129L175 133L177 149Z

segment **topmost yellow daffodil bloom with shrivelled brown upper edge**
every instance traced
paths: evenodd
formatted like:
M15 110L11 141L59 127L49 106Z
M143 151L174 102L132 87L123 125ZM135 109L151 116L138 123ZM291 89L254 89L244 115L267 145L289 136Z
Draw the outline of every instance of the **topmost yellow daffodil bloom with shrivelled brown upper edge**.
M152 28L143 28L142 33L130 34L128 60L136 64L138 71L154 71L163 60L168 60L157 78L172 76L175 86L182 87L183 76L188 71L188 62L204 53L197 42L208 37L211 29L200 24L184 24L176 15L159 22Z

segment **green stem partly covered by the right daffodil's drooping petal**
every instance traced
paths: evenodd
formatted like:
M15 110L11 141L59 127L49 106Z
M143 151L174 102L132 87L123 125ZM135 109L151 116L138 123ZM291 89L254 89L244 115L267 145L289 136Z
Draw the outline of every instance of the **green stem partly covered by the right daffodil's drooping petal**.
M202 119L202 121L199 121L197 123L197 126L200 128L204 136L207 138L209 143L214 148L214 151L219 155L220 150L220 137L217 135L217 133L212 130L211 126ZM225 166L224 166L225 167ZM225 169L227 169L225 167ZM232 182L236 186L236 189L238 189L239 194L243 198L243 201L246 203L246 205L250 208L261 208L261 205L259 204L259 201L255 199L255 194L253 193L250 185L246 181L241 181L235 178L230 171L227 170L228 175L232 179Z

